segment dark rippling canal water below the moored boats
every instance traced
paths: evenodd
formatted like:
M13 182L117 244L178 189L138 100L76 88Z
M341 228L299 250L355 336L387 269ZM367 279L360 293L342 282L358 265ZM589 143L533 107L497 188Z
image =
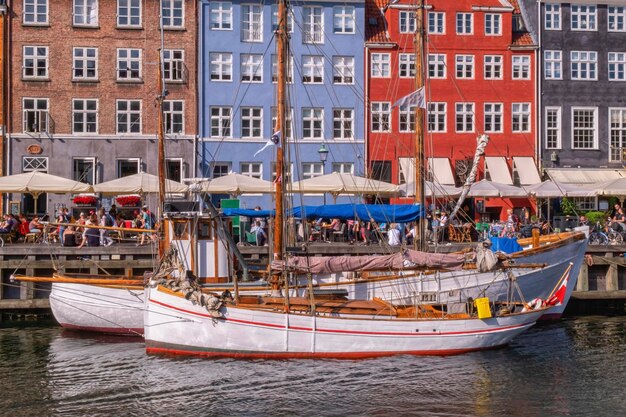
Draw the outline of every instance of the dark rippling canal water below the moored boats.
M3 416L624 416L626 317L543 324L449 357L148 356L140 340L0 328Z

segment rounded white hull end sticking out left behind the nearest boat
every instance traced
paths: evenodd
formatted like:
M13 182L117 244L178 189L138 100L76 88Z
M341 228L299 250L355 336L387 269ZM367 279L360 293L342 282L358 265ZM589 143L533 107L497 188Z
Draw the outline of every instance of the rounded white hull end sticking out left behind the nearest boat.
M54 318L68 329L143 334L144 289L88 284L53 283L50 307Z

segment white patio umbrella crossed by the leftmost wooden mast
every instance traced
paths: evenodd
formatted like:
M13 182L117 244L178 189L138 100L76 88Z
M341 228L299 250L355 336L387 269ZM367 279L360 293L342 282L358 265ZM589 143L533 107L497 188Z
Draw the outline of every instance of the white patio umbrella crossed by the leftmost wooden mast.
M102 194L148 194L159 192L159 177L145 172L129 175L93 186L96 193ZM165 180L166 193L185 193L187 186L172 180Z

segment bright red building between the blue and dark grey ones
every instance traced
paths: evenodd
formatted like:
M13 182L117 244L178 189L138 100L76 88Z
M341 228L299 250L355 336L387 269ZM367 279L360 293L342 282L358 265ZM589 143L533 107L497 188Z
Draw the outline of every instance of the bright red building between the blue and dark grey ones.
M490 137L479 179L539 182L535 165L535 50L517 0L432 0L423 9L428 178L460 185L476 138ZM374 178L413 182L415 111L393 104L415 91L414 0L367 0L367 160ZM496 201L497 200L497 201ZM524 201L490 199L495 216ZM494 207L489 210L488 207ZM478 214L476 215L478 218Z

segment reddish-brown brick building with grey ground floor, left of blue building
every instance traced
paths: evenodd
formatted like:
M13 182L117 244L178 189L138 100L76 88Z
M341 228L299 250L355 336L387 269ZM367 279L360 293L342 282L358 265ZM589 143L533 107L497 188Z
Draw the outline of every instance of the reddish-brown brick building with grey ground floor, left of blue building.
M168 176L191 176L196 133L196 1L7 1L7 174L88 183L157 173L163 6ZM13 196L16 200L19 195ZM22 211L33 210L24 196ZM52 214L68 196L41 196Z

